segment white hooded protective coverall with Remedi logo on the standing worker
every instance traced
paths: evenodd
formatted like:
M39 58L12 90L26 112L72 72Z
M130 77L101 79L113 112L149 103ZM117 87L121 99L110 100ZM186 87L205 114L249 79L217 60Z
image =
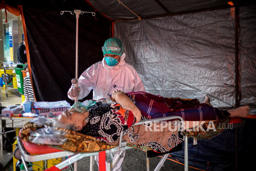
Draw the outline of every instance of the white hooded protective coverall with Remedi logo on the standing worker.
M78 99L86 97L92 89L93 100L109 98L108 93L112 95L114 90L121 90L125 93L146 92L138 73L133 66L124 61L124 58L125 53L116 66L108 66L103 58L101 62L97 62L85 70L78 79L78 85L81 88ZM74 100L75 98L71 96L72 86L68 90L68 98Z

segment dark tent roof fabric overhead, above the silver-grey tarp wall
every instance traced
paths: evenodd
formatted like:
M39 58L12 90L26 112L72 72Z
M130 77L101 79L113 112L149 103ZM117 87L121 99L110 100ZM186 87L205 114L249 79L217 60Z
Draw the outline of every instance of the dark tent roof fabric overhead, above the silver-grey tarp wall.
M165 15L167 12L156 2L160 2L171 14L203 10L221 6L230 6L228 2L232 0L122 0L130 10L123 6L118 0L87 0L97 10L113 20L149 17L155 15Z

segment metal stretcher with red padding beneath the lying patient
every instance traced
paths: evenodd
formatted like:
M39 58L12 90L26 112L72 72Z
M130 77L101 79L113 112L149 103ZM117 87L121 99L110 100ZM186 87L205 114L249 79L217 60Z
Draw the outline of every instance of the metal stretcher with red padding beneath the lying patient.
M161 117L161 118L155 118L155 119L149 119L145 121L140 121L134 125L141 125L141 124L147 124L151 122L159 122L159 121L167 121L171 119L179 119L180 121L183 121L183 119L179 116L170 116L170 117ZM134 126L133 125L133 126ZM238 132L238 127L244 126L245 121L236 117L231 118L229 125L226 127L226 129L233 129L236 128L236 132ZM183 129L180 128L182 131ZM71 153L67 151L60 151L58 149L50 148L47 145L35 145L28 142L22 142L19 136L17 137L17 143L20 150L20 159L23 163L27 162L36 162L36 161L42 161L42 160L49 160L52 158L60 158L60 157L69 157L65 161L62 161L61 163L45 169L44 171L57 171L67 168L69 165L74 163L74 171L77 171L77 161L84 158L84 157L90 157L90 171L94 171L94 156L99 155L100 153L104 153L105 155L105 161L107 163L107 171L112 171L113 168L117 165L118 161L123 157L123 153L125 150L132 149L133 147L126 146L127 142L122 141L122 134L120 135L119 144L117 147L105 150L103 152L95 152L95 153ZM237 134L237 133L236 133ZM184 136L184 170L188 171L188 137ZM238 135L236 135L236 140L238 141ZM194 139L194 145L196 145L197 140ZM238 144L238 142L237 142ZM35 149L40 149L39 151L35 152ZM39 153L40 155L30 155L30 153ZM113 157L113 153L120 152L116 158ZM164 154L162 159L160 160L159 164L156 166L155 171L159 171L161 167L163 166L163 163L167 159L169 153ZM17 157L16 157L17 158ZM19 159L19 158L18 158ZM25 169L28 171L27 165L24 165ZM149 158L147 157L147 171L149 171Z

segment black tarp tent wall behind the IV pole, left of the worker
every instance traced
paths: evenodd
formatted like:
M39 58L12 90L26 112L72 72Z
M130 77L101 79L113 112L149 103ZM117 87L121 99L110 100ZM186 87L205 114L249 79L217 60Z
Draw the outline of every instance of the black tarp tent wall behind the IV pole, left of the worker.
M8 2L6 2L8 3ZM76 17L62 10L94 12L85 1L34 1L23 5L37 101L68 99L71 79L75 78ZM97 20L96 20L97 19ZM101 47L109 38L110 22L96 13L79 18L78 75L103 58ZM92 99L92 92L85 99Z

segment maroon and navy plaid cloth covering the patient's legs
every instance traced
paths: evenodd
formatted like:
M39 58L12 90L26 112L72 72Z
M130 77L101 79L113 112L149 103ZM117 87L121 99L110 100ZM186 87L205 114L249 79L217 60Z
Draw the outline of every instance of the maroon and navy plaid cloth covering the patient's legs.
M126 93L149 119L178 115L184 121L221 120L230 115L226 110L219 110L200 103L197 99L165 98L160 95L138 91Z

